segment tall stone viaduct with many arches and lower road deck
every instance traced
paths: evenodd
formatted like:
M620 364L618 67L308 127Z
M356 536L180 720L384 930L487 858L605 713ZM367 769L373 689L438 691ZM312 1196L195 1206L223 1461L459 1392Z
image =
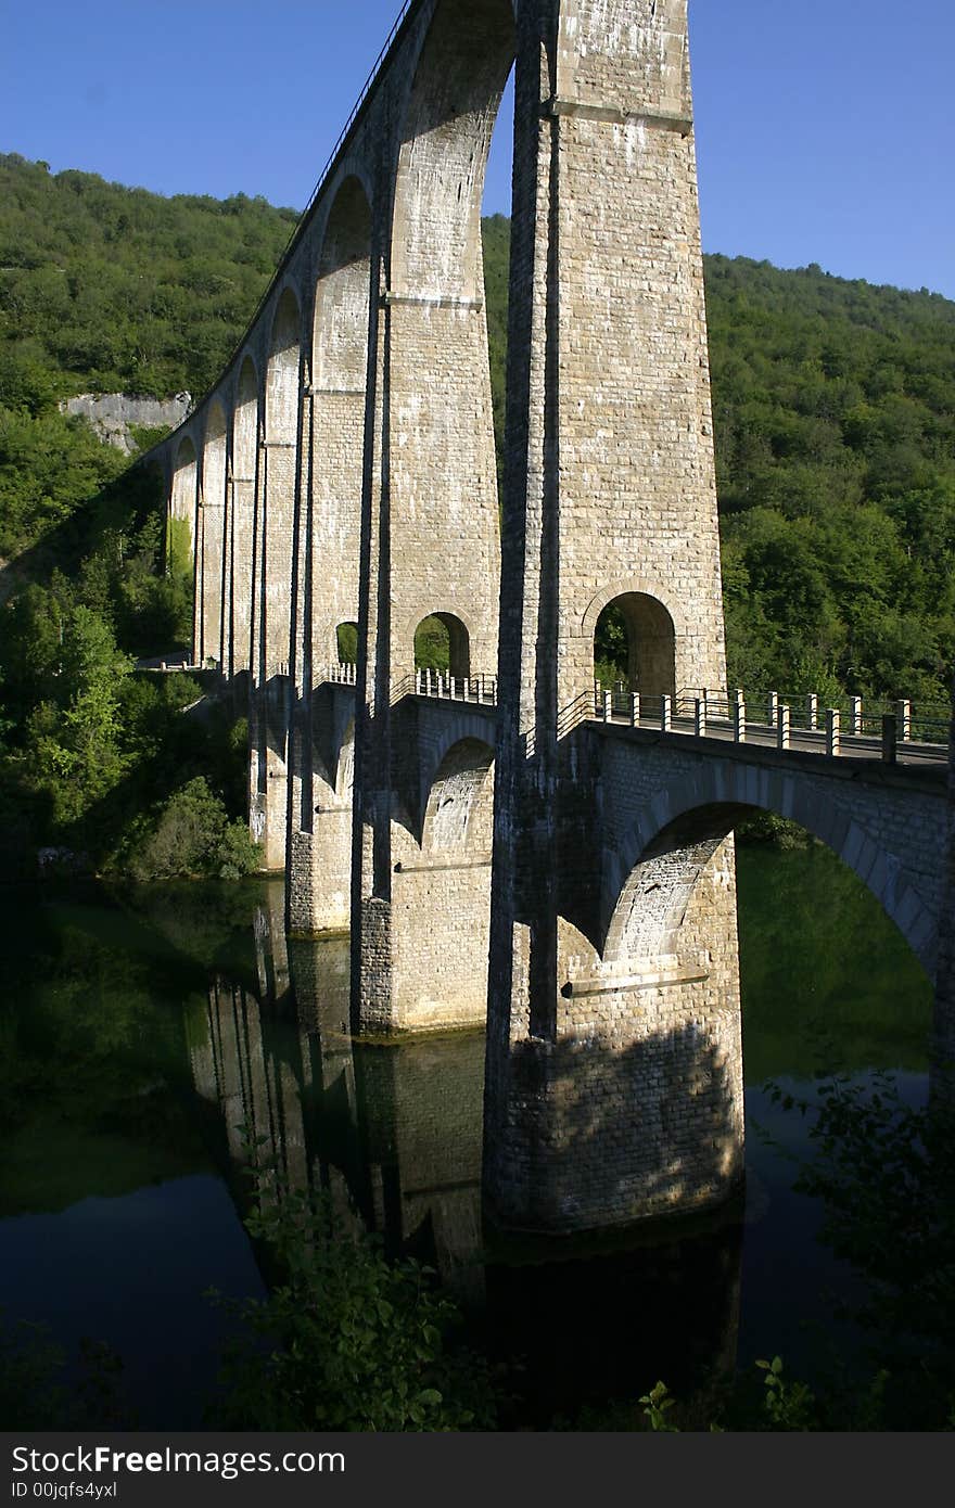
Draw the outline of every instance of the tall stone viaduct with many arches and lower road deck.
M498 498L480 208L511 66ZM487 1022L492 1215L724 1199L733 823L803 822L931 974L949 819L943 766L668 727L726 688L686 0L410 0L229 368L155 454L195 657L247 688L290 932L350 933L356 1033ZM594 716L608 609L658 727Z

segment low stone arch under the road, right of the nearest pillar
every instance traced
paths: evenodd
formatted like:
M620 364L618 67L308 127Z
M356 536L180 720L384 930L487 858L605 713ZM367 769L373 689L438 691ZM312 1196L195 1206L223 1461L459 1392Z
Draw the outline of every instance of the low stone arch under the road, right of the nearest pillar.
M898 858L857 819L849 820L798 775L772 777L732 760L673 780L643 807L606 866L610 905L603 958L676 952L696 884L739 819L774 811L806 828L852 869L931 976L934 914Z

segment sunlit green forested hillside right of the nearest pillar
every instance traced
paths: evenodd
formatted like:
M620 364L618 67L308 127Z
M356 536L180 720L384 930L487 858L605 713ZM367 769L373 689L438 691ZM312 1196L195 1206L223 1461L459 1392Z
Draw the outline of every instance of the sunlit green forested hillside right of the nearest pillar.
M947 700L955 305L706 259L730 680Z

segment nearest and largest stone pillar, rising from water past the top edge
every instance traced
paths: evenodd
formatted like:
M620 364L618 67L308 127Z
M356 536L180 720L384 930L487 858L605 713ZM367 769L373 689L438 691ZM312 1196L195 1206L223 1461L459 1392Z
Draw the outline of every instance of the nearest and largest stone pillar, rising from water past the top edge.
M611 956L614 786L573 715L608 600L665 609L677 689L726 683L724 635L686 3L517 33L484 1191L570 1231L741 1178L732 840L676 956L640 924Z

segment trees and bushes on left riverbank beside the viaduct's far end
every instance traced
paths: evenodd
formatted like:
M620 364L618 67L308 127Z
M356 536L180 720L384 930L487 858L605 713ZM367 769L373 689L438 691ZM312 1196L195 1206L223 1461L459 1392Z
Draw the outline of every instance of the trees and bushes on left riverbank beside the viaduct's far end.
M142 474L134 474L142 483ZM143 498L139 498L143 502ZM160 513L125 496L66 576L32 582L0 611L0 863L139 878L238 875L258 851L244 808L244 722L189 713L199 685L133 674L136 653L183 642L192 582L163 570ZM119 519L122 499L110 517ZM210 784L211 781L211 784ZM229 820L232 819L232 820Z

